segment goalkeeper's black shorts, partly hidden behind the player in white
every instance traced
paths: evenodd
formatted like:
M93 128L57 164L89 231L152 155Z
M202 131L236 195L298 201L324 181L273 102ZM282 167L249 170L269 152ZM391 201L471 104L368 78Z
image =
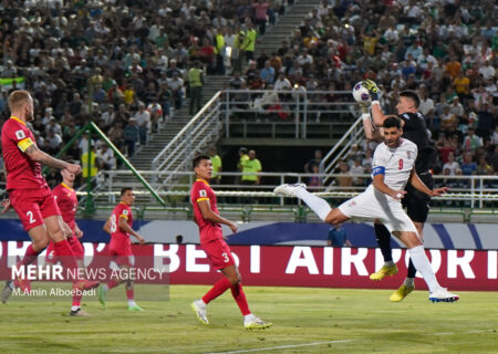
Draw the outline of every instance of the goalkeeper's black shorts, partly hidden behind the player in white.
M418 175L421 180L427 186L427 188L434 188L433 175L430 173L424 173ZM416 190L411 184L406 185L406 195L402 199L402 205L406 208L406 214L415 222L425 222L427 220L430 197L426 194Z

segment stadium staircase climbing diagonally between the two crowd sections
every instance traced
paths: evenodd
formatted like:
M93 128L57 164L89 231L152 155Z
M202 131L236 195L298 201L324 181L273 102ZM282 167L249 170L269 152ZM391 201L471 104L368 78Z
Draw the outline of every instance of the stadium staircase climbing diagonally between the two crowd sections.
M284 15L280 17L276 25L268 27L267 33L258 39L256 45L255 58L258 58L262 51L267 54L271 54L277 48L280 48L283 40L289 40L292 35L292 31L298 28L304 18L311 13L311 10L320 4L320 0L297 0L291 8L287 9ZM206 104L218 91L227 87L230 81L229 75L208 75L207 84L203 90L203 105ZM172 142L175 136L190 122L193 117L189 115L189 100L185 100L181 110L174 113L173 117L168 122L165 122L160 132L151 135L148 144L138 149L136 156L131 162L137 170L151 170L154 169L153 159L163 150L163 148ZM208 131L206 131L207 133ZM197 149L203 150L208 146L214 145L210 139L201 139L207 143L205 146L197 146ZM180 170L180 160L175 163L170 168L173 170ZM148 179L148 178L147 178ZM118 189L129 183L135 183L133 176L118 177L114 183L114 188ZM155 185L154 180L149 180Z

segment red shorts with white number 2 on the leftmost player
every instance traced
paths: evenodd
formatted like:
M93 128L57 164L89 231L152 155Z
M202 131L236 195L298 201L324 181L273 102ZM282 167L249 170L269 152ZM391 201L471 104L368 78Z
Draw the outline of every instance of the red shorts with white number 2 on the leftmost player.
M10 204L21 219L24 230L43 225L43 219L61 215L52 190L42 189L13 189L9 191Z

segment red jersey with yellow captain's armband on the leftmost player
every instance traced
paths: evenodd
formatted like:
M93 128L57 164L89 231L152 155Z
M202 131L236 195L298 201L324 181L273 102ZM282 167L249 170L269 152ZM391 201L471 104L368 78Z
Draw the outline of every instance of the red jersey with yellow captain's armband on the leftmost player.
M3 123L2 154L7 170L7 190L48 187L41 175L41 165L24 154L31 145L37 146L34 135L24 122L12 116Z

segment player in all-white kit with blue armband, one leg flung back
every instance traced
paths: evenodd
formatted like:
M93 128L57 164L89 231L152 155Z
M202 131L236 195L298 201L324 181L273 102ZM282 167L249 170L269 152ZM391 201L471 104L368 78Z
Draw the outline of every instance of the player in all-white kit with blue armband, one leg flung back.
M414 188L432 197L447 191L446 187L428 189L417 176L414 165L417 147L403 139L400 118L392 116L384 121L384 144L380 144L373 157L372 185L364 192L332 209L329 204L305 189L305 185L281 185L277 195L298 197L323 221L336 225L349 219L377 219L408 248L409 257L429 289L433 302L453 302L459 298L442 288L425 254L422 240L413 221L403 210L401 199L409 181Z

